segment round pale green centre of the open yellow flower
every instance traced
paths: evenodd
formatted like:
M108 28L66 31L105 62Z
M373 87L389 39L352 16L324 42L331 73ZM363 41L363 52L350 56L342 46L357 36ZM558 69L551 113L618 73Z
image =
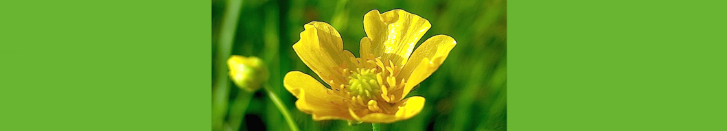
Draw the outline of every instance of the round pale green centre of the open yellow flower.
M376 68L356 68L356 71L351 71L346 86L348 91L352 96L358 95L364 100L376 99L376 96L381 94L376 74Z

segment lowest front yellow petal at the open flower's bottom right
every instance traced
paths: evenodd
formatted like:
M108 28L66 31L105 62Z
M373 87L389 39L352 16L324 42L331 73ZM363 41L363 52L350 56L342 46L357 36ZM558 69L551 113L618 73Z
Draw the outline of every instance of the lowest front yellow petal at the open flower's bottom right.
M420 96L413 96L395 105L396 108L398 108L396 114L366 114L366 116L361 117L359 121L372 123L393 123L405 119L410 119L411 117L417 116L417 114L422 111L422 108L424 108L424 102L425 98L422 98Z

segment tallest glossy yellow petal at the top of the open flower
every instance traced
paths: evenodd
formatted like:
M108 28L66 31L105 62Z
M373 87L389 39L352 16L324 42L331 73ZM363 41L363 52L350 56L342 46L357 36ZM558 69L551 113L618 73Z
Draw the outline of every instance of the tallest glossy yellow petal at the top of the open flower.
M364 15L364 30L371 42L371 53L385 61L392 60L399 67L406 63L414 45L430 27L429 20L401 9L383 14L374 9Z

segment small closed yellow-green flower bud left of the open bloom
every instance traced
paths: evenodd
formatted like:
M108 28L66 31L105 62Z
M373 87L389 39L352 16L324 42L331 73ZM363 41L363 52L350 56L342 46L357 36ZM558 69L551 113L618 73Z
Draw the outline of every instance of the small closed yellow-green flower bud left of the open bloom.
M228 67L230 79L242 90L254 92L268 81L268 68L258 57L232 55L228 59Z

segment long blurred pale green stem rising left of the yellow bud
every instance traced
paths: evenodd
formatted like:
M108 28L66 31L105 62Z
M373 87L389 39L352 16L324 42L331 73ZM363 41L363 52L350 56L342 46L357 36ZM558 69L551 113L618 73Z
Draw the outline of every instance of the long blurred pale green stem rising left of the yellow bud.
M227 58L230 57L230 49L235 39L241 7L242 0L229 0L225 8L225 16L222 17L220 39L217 42L217 56L214 57L215 80L212 88L212 130L222 130L225 115L228 111L230 80L228 78Z

